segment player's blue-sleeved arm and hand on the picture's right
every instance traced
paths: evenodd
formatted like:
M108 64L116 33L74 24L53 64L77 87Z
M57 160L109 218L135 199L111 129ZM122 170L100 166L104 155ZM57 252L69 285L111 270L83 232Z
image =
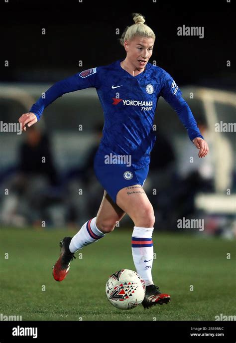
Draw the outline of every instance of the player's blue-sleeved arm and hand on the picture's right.
M182 92L176 85L173 78L164 71L162 78L162 89L160 95L168 102L171 107L176 111L179 119L187 129L190 140L194 143L195 147L199 149L198 156L203 158L207 156L209 147L204 140L197 126L196 120L191 112L191 109L187 102L182 98Z

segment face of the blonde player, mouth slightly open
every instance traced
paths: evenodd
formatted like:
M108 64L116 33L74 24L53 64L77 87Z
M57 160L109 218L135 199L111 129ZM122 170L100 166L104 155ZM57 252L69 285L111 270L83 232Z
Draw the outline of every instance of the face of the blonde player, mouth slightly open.
M145 68L149 58L152 55L154 45L153 38L136 36L130 41L124 42L124 48L127 52L128 61L138 70Z

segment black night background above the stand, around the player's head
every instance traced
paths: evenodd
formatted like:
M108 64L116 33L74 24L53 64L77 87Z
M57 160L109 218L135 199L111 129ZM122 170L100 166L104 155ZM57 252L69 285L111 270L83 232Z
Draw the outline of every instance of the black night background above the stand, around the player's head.
M234 87L235 11L227 0L2 0L1 81L54 82L125 57L118 38L133 23L132 12L143 14L156 34L150 62L156 60L177 83ZM178 36L182 25L204 26L204 38Z

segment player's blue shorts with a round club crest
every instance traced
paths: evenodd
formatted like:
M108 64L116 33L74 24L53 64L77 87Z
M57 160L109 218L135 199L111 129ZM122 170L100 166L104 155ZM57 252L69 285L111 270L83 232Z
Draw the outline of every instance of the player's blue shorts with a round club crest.
M126 164L105 164L104 154L97 153L94 158L94 171L97 179L116 203L120 189L140 184L143 186L149 165L141 169L127 167Z

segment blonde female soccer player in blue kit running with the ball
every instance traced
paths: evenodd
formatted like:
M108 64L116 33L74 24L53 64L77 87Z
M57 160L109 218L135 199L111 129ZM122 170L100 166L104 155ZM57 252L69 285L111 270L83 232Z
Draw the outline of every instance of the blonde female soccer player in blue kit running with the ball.
M126 27L120 39L126 51L124 59L84 70L55 83L32 105L29 113L19 118L19 123L25 131L58 97L79 89L96 88L105 123L94 170L105 192L97 216L84 223L73 238L65 237L60 242L61 253L53 266L53 276L56 281L64 280L74 253L112 232L127 213L134 223L133 262L146 285L142 302L145 309L170 301L170 296L161 293L152 280L155 217L142 188L155 143L152 124L160 96L177 112L190 140L199 149L199 158L205 157L209 148L173 78L164 69L148 62L155 42L154 32L144 24L141 14L133 13L133 20L135 23Z

